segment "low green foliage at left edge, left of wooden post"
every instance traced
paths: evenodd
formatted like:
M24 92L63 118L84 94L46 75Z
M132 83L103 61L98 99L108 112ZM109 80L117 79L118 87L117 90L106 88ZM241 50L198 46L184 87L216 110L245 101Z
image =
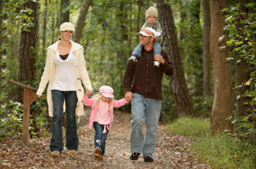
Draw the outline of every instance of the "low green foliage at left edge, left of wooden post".
M22 134L22 104L3 95L0 95L0 100L0 141L13 136L20 137Z

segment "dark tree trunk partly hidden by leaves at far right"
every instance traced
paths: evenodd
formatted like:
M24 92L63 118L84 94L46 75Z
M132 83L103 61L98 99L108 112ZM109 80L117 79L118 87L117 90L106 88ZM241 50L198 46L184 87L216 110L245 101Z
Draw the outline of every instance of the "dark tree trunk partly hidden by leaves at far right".
M248 0L236 0L236 3L248 3ZM241 7L240 8L242 13L246 13L248 14L248 8L245 7ZM241 20L243 20L244 18L242 18L243 15L240 15L239 18L236 18L237 23L236 24L236 29L238 30L238 35L240 35L239 30L242 27L245 27L245 24L239 24ZM241 37L244 37L241 34ZM243 39L240 39L241 41L245 41ZM236 78L237 78L237 85L242 85L245 84L246 81L248 81L250 79L250 67L248 62L246 62L246 60L242 59L241 56L238 53L235 53L235 60L241 60L240 62L236 62ZM240 97L237 100L237 106L236 106L236 110L235 110L235 116L247 116L248 109L250 109L250 104L245 104L245 102L250 102L250 98L249 97L245 97L242 96L245 94L245 91L248 91L249 88L246 85L242 85L241 88L238 88L238 95L240 95Z

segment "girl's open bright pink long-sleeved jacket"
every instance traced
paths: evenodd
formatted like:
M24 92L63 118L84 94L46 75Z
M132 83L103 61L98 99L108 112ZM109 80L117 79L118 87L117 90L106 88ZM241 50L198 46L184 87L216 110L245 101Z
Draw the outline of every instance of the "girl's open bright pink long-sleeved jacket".
M94 105L94 103L96 102L97 98L92 98L89 99L88 96L83 97L83 104L85 104L86 106L90 106L92 107ZM122 107L125 104L128 104L129 102L125 100L125 98L122 98L120 100L112 100L113 103L113 108L110 111L110 122L105 122L105 124L109 124L109 129L112 127L112 122L114 120L114 107ZM92 129L92 124L93 124L93 120L96 116L96 112L98 110L99 104L96 104L96 106L94 107L94 109L92 110L91 116L89 117L89 129Z

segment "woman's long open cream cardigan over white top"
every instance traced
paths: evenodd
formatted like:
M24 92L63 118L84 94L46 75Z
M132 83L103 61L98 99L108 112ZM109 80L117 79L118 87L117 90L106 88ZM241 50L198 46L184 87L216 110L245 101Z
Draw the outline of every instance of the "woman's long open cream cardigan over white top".
M41 96L44 92L44 89L49 81L48 89L47 89L47 102L49 109L49 116L53 116L53 100L51 96L51 86L54 79L54 71L55 71L55 58L57 53L57 47L60 41L57 41L53 45L47 48L47 60L44 68L44 73L41 77L41 82L39 88L37 90L37 95ZM75 64L75 85L76 85L76 95L78 98L77 107L76 107L76 116L83 116L85 113L83 112L83 96L84 91L82 87L81 80L83 81L83 85L86 87L86 91L92 91L91 81L89 81L89 75L86 70L86 61L83 56L83 46L78 43L74 43L70 40L71 48L73 52L73 59ZM65 106L64 106L65 111Z

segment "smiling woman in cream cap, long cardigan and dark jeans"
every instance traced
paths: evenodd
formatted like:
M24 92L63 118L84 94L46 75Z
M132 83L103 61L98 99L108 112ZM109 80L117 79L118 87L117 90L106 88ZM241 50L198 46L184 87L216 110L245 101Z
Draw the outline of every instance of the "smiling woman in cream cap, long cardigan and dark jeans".
M79 145L76 116L84 115L84 91L81 80L86 91L92 93L92 85L83 56L83 46L71 40L74 32L75 27L70 22L60 25L60 40L47 48L47 61L37 90L37 97L40 98L49 81L47 102L49 116L53 116L50 139L52 158L58 158L63 151L63 111L66 111L66 148L71 157L76 157ZM63 107L64 100L66 110Z

